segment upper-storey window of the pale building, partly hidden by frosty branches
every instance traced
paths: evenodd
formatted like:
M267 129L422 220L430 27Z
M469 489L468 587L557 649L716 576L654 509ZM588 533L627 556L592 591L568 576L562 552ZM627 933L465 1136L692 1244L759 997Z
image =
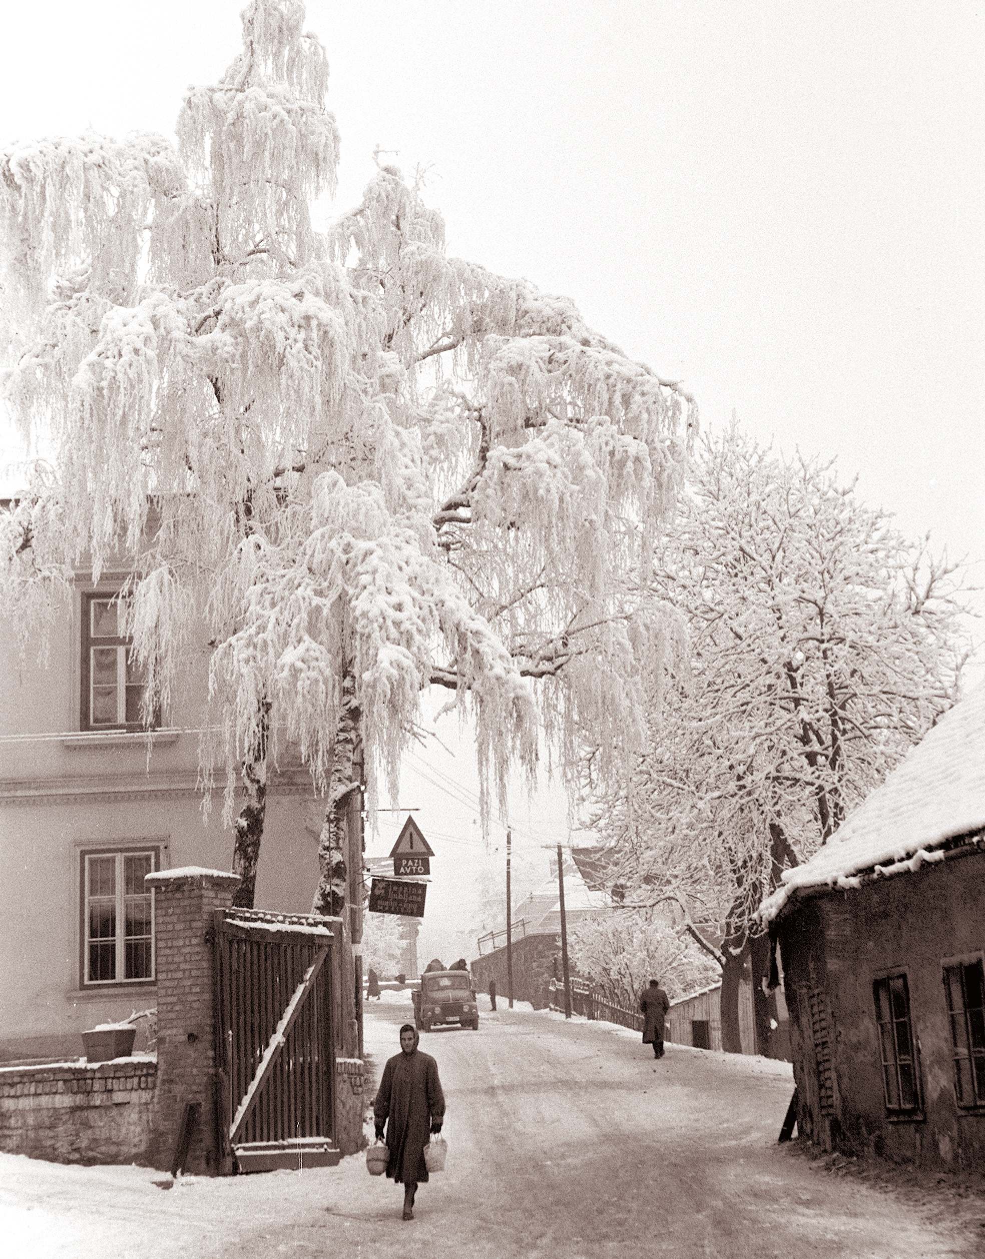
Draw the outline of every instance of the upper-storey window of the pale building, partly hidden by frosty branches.
M125 604L112 594L82 597L82 729L139 728L145 677L123 633ZM154 725L159 725L155 715Z

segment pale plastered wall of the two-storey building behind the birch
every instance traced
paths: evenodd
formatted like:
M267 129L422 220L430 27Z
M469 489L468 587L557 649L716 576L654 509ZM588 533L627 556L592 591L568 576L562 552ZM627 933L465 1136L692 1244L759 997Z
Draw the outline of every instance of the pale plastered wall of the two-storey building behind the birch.
M115 583L105 587L112 590ZM79 607L77 592L53 623L45 661L33 647L21 657L10 636L0 640L0 1061L6 1063L79 1055L79 1032L156 1003L154 983L81 983L82 849L146 841L160 845L165 867L232 864L222 773L207 822L196 789L208 651L190 645L164 714L169 729L154 737L151 749L140 733L83 734ZM280 772L268 773L256 905L309 913L324 802L291 749L281 748L278 757ZM351 865L358 871L359 862ZM358 929L356 913L346 930L358 939Z

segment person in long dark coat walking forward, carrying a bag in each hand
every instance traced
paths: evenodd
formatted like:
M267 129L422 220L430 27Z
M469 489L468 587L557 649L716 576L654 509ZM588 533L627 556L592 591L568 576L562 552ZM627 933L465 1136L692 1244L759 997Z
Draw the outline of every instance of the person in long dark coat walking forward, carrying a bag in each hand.
M403 1185L404 1220L413 1220L417 1186L427 1180L424 1146L428 1134L441 1132L445 1122L438 1064L431 1054L421 1053L417 1047L419 1040L412 1024L401 1027L401 1053L387 1059L373 1103L377 1137L383 1137L383 1127L387 1126L390 1151L387 1176Z

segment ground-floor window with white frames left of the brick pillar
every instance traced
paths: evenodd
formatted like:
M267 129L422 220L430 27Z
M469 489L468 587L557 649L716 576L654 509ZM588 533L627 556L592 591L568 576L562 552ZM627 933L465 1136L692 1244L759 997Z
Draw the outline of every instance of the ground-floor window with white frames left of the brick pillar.
M157 850L86 852L83 981L121 983L154 978L154 894L144 876Z

